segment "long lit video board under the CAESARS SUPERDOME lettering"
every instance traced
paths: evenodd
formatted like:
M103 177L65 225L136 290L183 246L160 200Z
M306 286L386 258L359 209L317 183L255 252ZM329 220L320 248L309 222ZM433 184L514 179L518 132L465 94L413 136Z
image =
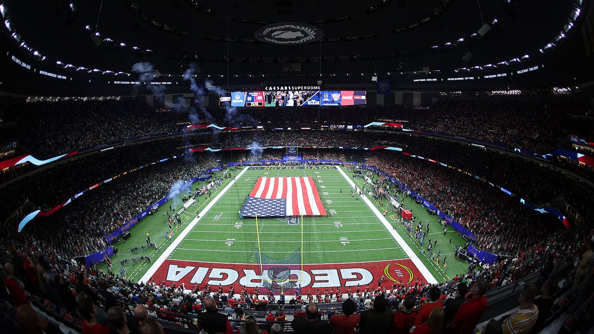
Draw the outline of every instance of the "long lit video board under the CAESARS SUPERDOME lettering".
M234 107L300 107L365 105L364 90L272 90L219 93L219 105Z

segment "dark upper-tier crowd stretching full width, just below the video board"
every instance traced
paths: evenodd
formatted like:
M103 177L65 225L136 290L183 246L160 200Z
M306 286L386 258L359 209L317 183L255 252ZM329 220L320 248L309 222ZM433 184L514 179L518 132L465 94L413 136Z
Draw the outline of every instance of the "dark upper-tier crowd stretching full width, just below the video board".
M488 99L440 100L428 109L396 105L365 109L210 108L208 111L187 106L155 111L146 103L131 99L17 103L0 110L0 119L5 123L15 122L14 127L2 131L0 147L16 143L17 153L41 158L114 141L176 133L190 124L214 122L222 127L263 125L268 130L274 127L294 130L385 120L402 122L405 128L413 130L478 138L548 153L552 148L567 146L568 135L594 140L592 121L571 116L577 114L577 107L565 100Z

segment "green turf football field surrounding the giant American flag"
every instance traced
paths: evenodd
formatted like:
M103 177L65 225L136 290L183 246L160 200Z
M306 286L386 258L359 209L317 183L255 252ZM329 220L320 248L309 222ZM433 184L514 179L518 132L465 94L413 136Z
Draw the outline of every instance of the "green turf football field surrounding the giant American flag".
M418 256L416 267L426 267L437 281L451 278L456 273L466 272L465 261L454 257L454 245L464 241L457 233L452 232L451 228L447 235L444 235L435 216L428 215L424 208L410 198L405 199L405 205L412 210L416 219L422 220L424 228L426 221L429 221L431 233L425 241L428 238L438 240L438 245L434 249L442 250L442 258L447 256L448 267L444 272L443 262L438 265L420 253L418 243L413 241L402 225L393 219L396 218L395 214L388 213L386 217L381 217L380 214L378 217L378 211L374 213L368 204L375 206L383 213L379 203L371 197L364 201L361 197L351 196L350 182L354 182L361 188L366 181L361 178L353 179L346 168L337 168L340 168L343 173L334 166L331 169L247 169L245 171L245 168L231 168L234 178L239 174L241 177L235 182L232 182L232 178L227 179L222 187L213 191L210 199L205 200L204 196L201 196L200 204L194 204L181 212L183 223L179 228L173 227L172 241L164 235L170 231L163 218L163 213L169 208L169 202L160 207L154 216L149 216L133 226L132 237L125 243L116 245L119 253L112 257L113 271L118 272L118 261L135 256L151 257L150 264L146 261L124 264L127 277L135 281L146 276L147 271L153 275L155 271L159 273L165 270L159 268L164 260L166 263L179 261L180 267L182 264L189 266L191 261L202 265L227 263L239 272L244 267L249 268L249 265L257 266L262 258L276 259L282 263L286 257L293 256L290 263L295 264L295 254L299 262L305 266L371 263L409 259L410 256L403 249L404 246L409 248L409 254L412 250L412 253ZM239 219L238 211L258 177L314 178L321 200L326 205L328 217L299 218L298 220L258 218L257 223L254 218ZM231 185L229 185L230 182ZM192 188L200 185L204 185L204 182L197 182ZM206 212L205 209L207 209ZM200 213L202 216L197 219ZM394 228L382 223L380 218L386 219ZM158 249L150 248L131 253L129 248L146 244L146 232L149 232L151 242L157 242ZM394 232L401 238L400 242L394 238ZM450 238L451 244L449 244ZM266 260L263 263L266 263ZM100 264L99 267L105 269L104 264ZM165 274L162 273L162 275ZM224 278L225 275L221 277Z

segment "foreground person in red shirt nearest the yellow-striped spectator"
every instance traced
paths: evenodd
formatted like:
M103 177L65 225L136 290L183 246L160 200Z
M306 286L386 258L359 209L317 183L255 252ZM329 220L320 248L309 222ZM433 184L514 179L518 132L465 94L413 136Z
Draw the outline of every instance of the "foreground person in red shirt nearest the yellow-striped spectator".
M456 316L451 323L445 327L447 333L472 334L476 324L482 317L486 308L486 297L484 296L487 288L485 279L477 279L470 287L472 299L460 305Z

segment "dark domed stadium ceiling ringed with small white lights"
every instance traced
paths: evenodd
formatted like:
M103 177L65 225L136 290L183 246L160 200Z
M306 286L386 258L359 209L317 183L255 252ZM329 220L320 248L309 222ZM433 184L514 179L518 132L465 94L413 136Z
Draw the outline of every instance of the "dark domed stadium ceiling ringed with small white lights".
M181 76L195 63L201 75L213 78L312 77L320 73L323 77L347 73L383 76L424 69L429 74L457 73L473 67L486 71L497 64L512 66L511 59L517 59L518 64L542 64L549 54L563 51L555 45L546 47L555 42L560 31L566 33L557 41L559 45L579 31L581 17L574 18L575 26L568 22L576 16L576 8L586 7L580 0L0 3L5 21L3 44L8 53L68 78L123 78L137 62L150 62L168 77ZM289 42L276 45L254 36L269 24L277 24L271 31ZM299 30L299 24L315 32ZM279 25L283 29L276 30ZM321 31L323 37L318 34L315 38L321 39L315 42L292 42L301 38L296 36ZM314 36L311 39L315 40ZM573 61L575 64L576 59Z

